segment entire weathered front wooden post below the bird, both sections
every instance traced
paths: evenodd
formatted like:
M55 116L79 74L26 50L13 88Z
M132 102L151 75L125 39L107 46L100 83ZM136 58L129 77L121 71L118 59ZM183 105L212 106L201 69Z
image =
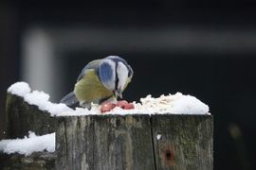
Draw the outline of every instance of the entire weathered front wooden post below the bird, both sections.
M60 117L57 169L212 170L210 115Z

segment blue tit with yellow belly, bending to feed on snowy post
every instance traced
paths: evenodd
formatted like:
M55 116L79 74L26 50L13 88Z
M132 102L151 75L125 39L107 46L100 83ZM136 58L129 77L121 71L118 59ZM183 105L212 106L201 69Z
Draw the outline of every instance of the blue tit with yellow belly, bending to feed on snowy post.
M133 75L132 67L118 56L92 60L82 69L74 91L66 94L61 103L74 106L79 102L83 108L90 108L91 103L115 101L122 97Z

